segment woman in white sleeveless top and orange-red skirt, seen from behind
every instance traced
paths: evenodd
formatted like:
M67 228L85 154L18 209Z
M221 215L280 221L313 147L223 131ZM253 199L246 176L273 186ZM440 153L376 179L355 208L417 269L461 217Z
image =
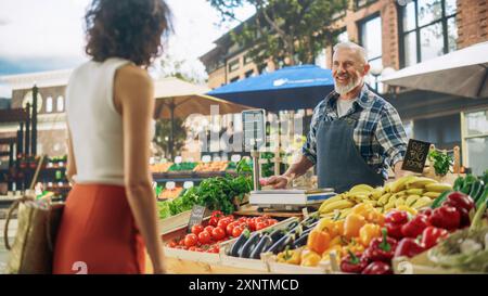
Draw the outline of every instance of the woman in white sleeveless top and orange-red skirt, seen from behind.
M54 273L143 273L144 247L164 273L149 170L153 85L146 68L170 28L164 0L94 0L86 14L92 59L66 88L69 192Z

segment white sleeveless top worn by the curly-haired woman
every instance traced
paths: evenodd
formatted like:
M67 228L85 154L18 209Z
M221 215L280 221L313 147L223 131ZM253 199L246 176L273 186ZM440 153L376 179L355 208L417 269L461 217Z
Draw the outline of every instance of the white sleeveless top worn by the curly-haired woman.
M77 183L124 185L123 119L114 105L114 76L131 63L107 59L76 68L66 88Z

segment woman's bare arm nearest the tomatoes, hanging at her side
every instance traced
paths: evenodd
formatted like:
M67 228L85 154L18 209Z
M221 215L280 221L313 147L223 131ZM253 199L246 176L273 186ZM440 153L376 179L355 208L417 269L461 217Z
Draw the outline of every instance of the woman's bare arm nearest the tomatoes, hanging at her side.
M123 116L127 197L154 272L163 273L163 241L157 228L156 196L149 169L154 90L146 72L136 66L120 68L115 78L115 103Z

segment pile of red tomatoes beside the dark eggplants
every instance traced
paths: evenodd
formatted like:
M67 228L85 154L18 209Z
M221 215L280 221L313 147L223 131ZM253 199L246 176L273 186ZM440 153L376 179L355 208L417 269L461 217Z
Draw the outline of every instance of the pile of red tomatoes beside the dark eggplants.
M257 231L275 223L278 220L267 215L234 218L233 215L224 216L221 211L215 210L207 226L193 226L191 233L169 242L167 246L193 252L219 253L219 243L239 237L245 229Z

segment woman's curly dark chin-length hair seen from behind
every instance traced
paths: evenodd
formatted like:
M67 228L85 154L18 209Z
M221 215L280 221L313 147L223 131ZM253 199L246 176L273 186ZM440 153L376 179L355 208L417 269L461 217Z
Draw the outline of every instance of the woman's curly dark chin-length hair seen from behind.
M86 52L97 62L123 57L149 67L171 27L164 0L93 0L85 16Z

